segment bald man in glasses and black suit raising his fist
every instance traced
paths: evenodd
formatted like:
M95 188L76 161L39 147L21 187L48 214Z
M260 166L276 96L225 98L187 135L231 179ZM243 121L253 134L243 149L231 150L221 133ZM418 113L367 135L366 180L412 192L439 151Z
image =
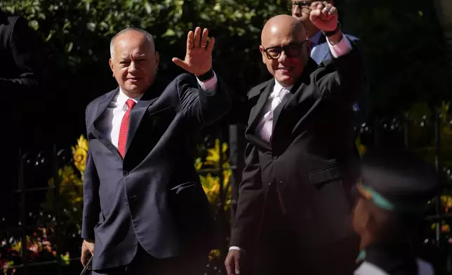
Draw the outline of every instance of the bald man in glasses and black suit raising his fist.
M310 16L333 55L323 65L309 57L304 27L292 16L277 15L262 29L262 61L274 78L248 93L254 107L228 274L244 265L251 274L344 274L354 267L352 104L364 83L361 58L338 28L335 7L318 2Z

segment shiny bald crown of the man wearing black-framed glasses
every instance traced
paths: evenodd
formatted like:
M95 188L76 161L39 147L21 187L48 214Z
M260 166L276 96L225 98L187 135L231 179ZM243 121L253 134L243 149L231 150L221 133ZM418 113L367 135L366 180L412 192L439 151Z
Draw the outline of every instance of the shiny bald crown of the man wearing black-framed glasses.
M265 23L260 36L262 46L269 47L268 43L277 36L292 36L300 41L306 40L303 24L291 15L277 15Z

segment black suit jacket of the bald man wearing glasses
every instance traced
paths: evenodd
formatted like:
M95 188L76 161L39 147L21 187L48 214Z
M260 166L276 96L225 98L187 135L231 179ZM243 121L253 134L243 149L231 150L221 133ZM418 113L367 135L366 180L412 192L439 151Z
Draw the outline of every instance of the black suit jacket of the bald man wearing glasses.
M231 246L256 248L272 186L281 211L298 232L294 241L300 247L321 247L352 234L349 190L357 161L352 103L363 90L363 72L356 46L319 66L310 59L291 93L274 110L271 143L261 140L255 129L274 79L250 90L253 108L246 128L246 167Z

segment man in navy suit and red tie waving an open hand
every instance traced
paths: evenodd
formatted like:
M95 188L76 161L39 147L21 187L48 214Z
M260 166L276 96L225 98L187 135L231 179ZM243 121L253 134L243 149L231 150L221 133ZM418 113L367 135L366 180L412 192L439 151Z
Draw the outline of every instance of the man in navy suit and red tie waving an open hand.
M197 79L181 74L166 84L156 79L150 34L125 29L112 39L119 88L86 109L81 261L93 253L95 274L199 274L194 255L206 258L199 235L211 216L194 169L195 138L230 109L211 69L214 42L207 29L190 31L185 60L173 62Z

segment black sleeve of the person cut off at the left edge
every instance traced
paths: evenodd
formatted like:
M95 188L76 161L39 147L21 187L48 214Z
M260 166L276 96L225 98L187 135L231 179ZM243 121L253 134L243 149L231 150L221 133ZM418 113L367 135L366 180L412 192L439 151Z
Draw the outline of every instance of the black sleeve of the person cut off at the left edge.
M8 48L15 62L14 70L18 72L14 78L0 78L0 90L13 93L29 93L38 86L37 69L39 54L35 52L38 46L36 35L28 27L25 18L16 18L9 33Z

